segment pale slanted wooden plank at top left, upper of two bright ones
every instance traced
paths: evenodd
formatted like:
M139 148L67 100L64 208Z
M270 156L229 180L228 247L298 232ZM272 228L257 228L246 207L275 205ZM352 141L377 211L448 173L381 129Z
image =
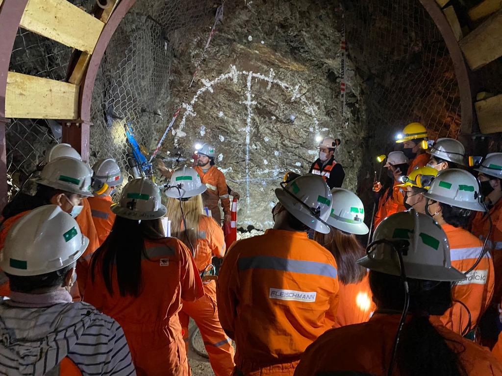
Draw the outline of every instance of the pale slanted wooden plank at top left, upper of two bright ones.
M66 0L29 0L20 26L91 54L104 23Z

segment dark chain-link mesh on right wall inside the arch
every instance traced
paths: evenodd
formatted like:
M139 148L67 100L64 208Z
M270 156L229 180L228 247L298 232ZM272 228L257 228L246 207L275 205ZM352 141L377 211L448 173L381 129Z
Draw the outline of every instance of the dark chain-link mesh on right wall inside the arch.
M446 44L419 0L346 5L350 58L365 76L372 138L389 139L412 121L431 138L456 138L460 98Z

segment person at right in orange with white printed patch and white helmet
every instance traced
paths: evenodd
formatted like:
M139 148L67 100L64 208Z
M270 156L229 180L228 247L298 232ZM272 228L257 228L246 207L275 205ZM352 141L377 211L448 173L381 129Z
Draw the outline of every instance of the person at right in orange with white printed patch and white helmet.
M483 248L482 242L465 230L471 212L484 211L479 184L469 172L448 168L438 173L424 197L428 199L425 213L446 233L453 267L463 273L469 271L466 279L453 285L453 306L441 317L447 328L466 335L476 328L491 302L494 288L493 262L488 252L470 271Z

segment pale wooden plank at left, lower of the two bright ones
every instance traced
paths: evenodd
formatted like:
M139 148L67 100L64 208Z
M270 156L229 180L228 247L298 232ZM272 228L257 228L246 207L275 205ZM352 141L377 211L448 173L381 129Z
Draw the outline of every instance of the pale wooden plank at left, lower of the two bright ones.
M6 117L75 119L78 116L78 86L9 72L5 98Z

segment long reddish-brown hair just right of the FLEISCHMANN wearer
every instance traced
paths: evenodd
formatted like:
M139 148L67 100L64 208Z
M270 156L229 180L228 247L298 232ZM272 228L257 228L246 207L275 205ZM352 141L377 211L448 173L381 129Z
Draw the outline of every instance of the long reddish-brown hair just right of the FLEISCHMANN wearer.
M366 252L354 234L346 234L331 228L329 234L316 232L314 240L333 254L338 267L338 279L344 285L361 282L366 275L366 268L357 265L356 261Z

